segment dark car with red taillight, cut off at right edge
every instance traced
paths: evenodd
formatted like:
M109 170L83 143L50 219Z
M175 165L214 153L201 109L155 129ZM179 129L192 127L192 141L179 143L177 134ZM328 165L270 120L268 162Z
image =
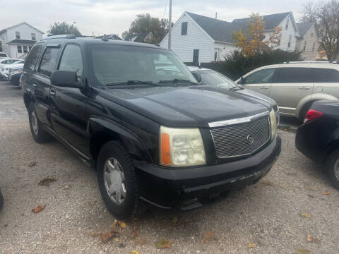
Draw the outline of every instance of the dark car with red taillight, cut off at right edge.
M314 102L297 130L295 144L304 155L323 164L339 189L339 101Z

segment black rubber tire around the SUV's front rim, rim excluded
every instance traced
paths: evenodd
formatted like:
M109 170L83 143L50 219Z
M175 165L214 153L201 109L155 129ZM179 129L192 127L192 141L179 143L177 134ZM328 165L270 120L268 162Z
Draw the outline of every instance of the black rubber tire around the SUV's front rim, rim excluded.
M124 174L126 197L124 202L117 205L106 190L104 174L106 163L109 158L117 159ZM102 146L97 159L97 181L99 183L102 199L109 212L117 219L131 219L140 214L138 184L136 181L136 172L133 167L133 160L123 145L118 141L110 141Z

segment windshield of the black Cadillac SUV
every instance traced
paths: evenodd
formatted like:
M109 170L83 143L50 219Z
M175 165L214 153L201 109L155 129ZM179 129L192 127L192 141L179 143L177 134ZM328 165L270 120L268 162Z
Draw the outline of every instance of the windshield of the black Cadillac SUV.
M184 63L165 49L95 44L90 51L95 78L101 85L128 83L131 80L148 83L187 80L196 83Z

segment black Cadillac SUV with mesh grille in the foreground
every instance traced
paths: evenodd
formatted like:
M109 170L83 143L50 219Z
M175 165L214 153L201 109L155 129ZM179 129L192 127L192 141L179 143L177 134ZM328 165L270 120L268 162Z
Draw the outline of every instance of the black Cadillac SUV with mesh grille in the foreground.
M51 136L97 169L118 219L141 200L189 210L256 183L280 153L278 107L196 82L151 44L47 37L20 80L37 143Z

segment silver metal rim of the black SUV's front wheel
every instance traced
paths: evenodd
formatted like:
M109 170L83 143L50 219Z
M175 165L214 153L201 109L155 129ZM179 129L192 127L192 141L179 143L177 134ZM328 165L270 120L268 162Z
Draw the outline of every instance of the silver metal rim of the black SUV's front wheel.
M104 182L109 198L121 205L126 198L126 183L121 164L115 158L107 159L104 169Z

